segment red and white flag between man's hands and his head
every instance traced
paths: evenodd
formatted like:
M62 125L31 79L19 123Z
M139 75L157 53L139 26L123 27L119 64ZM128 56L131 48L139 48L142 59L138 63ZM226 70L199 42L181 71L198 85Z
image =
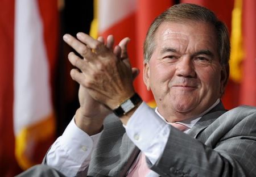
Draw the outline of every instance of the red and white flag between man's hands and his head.
M112 34L115 41L124 37L131 39L128 52L131 65L141 73L135 79L135 90L151 107L154 98L143 82L143 42L152 21L171 6L170 0L94 0L94 19L90 34L106 36Z

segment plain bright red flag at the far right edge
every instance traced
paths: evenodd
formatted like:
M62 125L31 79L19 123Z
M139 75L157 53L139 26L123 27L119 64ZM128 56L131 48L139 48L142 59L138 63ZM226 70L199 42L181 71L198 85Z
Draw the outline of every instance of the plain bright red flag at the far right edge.
M256 106L256 1L243 1L243 49L240 104Z

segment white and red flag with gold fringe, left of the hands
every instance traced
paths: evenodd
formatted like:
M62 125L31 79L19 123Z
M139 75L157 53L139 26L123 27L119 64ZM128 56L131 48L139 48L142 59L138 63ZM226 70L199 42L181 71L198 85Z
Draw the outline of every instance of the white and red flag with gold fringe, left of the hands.
M40 163L54 139L50 64L57 48L47 48L56 45L56 37L45 35L56 30L56 16L56 1L15 1L13 119L15 155L23 169Z

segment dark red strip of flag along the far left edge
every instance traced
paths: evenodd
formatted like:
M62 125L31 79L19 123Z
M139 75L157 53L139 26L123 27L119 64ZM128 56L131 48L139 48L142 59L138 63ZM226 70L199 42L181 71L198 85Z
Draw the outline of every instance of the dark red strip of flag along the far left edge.
M14 176L21 172L14 156L13 132L14 0L1 1L0 37L0 174Z

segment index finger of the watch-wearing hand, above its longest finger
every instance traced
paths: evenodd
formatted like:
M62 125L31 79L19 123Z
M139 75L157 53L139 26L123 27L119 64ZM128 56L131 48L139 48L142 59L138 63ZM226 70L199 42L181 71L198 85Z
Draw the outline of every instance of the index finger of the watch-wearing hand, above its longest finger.
M93 37L86 35L85 33L79 32L76 36L77 39L79 39L82 43L86 44L96 54L103 53L107 49L104 43L101 43L100 41L93 39Z

